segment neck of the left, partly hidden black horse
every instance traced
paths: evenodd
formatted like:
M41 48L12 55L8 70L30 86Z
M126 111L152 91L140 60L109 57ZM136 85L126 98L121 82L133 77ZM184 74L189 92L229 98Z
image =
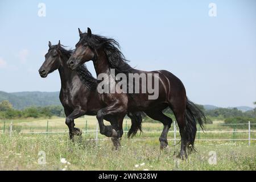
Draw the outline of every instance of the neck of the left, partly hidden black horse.
M75 71L68 68L68 59L61 57L61 64L59 67L61 88L68 88L68 84L72 83L74 77L77 76Z

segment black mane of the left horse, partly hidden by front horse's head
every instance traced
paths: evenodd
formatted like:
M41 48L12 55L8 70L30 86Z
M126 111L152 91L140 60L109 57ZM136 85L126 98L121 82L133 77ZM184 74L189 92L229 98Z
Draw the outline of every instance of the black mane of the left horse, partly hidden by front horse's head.
M56 46L52 46L53 48L56 48ZM67 57L67 60L72 55L74 50L72 49L65 49L65 46L61 45L59 50L60 52ZM79 75L80 80L82 81L82 84L84 84L88 89L90 90L96 90L97 88L97 80L92 76L92 74L88 71L85 64L80 65L75 70L77 72L77 75Z

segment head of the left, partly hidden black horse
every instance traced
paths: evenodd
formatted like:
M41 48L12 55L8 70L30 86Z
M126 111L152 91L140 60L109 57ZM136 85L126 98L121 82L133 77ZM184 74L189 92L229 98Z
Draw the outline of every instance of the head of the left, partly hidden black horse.
M41 77L45 78L47 75L60 67L60 41L57 45L52 46L49 42L49 50L44 57L46 60L39 69L39 74Z

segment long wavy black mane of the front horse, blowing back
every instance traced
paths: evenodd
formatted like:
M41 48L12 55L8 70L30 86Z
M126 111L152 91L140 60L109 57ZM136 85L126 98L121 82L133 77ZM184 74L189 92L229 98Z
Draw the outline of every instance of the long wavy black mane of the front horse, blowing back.
M87 33L84 33L82 34L82 41L85 41L94 49L103 48L108 56L110 68L114 68L115 73L125 73L127 75L134 72L134 68L127 64L128 60L120 51L119 43L116 40L100 35L87 36Z

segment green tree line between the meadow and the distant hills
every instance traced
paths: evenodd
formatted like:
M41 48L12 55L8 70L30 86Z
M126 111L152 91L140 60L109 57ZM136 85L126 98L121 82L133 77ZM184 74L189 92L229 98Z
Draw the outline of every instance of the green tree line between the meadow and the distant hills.
M256 102L254 102L256 105ZM214 119L224 120L225 123L256 123L256 108L249 111L241 111L237 108L217 108L212 110L205 110L203 105L197 105L204 111L207 118L207 123L212 123ZM175 120L174 113L171 109L164 110L164 114ZM13 105L8 100L0 102L0 119L18 119L18 118L51 118L53 116L65 117L63 106L31 106L23 110L13 108ZM157 122L145 116L143 122Z

